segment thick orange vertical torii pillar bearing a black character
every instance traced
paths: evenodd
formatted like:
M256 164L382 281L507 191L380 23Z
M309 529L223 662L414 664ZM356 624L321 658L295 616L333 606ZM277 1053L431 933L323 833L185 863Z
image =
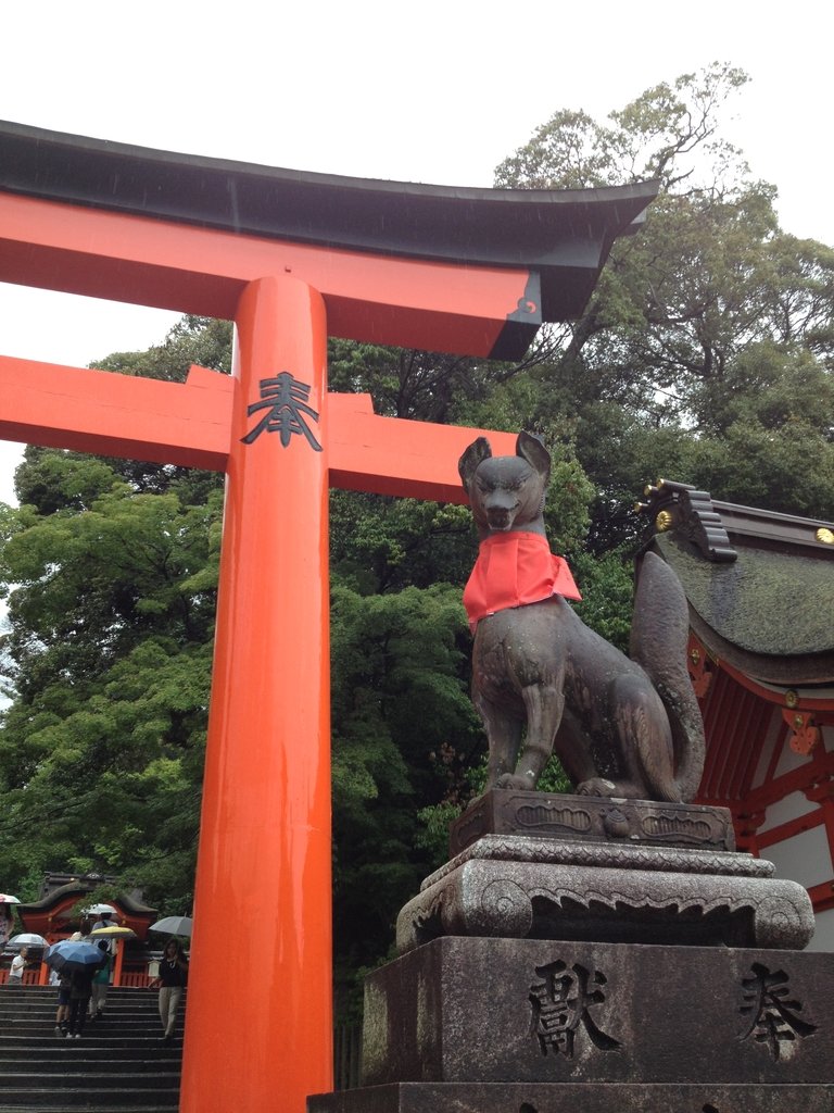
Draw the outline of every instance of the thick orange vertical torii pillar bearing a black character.
M324 302L259 279L236 325L180 1110L302 1113L332 1087Z

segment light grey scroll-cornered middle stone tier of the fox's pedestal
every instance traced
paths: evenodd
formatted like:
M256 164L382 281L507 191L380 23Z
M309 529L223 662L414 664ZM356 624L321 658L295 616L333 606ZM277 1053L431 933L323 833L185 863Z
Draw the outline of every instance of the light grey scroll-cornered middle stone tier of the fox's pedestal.
M426 878L405 954L441 936L802 949L807 892L747 854L489 835Z

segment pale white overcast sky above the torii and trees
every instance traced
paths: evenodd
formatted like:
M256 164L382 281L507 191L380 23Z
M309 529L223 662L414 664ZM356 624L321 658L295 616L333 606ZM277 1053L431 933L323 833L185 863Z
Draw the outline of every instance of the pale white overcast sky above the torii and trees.
M728 137L777 186L782 226L834 244L833 13L817 0L41 0L3 11L0 118L266 166L489 186L559 108L603 118L729 61L752 81ZM176 319L0 284L3 355L85 366L158 343ZM0 499L18 453L0 451Z

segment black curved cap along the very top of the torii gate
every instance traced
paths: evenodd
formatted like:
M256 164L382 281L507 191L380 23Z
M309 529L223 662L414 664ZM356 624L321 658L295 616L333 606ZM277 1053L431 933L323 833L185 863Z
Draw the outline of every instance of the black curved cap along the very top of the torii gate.
M527 269L542 319L578 316L657 181L484 189L342 177L173 154L0 121L0 189L330 248Z

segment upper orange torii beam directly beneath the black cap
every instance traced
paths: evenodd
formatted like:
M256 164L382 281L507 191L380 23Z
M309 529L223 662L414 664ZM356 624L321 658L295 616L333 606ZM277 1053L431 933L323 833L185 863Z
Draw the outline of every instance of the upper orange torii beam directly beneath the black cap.
M460 266L237 235L0 194L0 280L230 321L247 283L321 292L332 336L488 356L527 268Z

